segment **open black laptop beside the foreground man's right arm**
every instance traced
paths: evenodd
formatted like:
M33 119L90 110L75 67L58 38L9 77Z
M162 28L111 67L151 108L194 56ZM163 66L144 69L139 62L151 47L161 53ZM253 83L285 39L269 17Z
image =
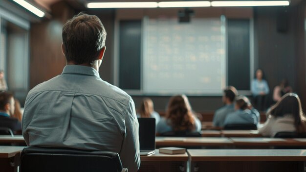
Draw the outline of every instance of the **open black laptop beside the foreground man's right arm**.
M155 153L155 119L138 118L140 155Z

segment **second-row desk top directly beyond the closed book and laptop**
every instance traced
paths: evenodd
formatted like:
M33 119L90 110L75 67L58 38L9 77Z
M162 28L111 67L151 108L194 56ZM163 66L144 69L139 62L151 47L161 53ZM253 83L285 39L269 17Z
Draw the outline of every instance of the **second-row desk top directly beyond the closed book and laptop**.
M156 137L156 146L228 146L233 142L229 138L221 137Z

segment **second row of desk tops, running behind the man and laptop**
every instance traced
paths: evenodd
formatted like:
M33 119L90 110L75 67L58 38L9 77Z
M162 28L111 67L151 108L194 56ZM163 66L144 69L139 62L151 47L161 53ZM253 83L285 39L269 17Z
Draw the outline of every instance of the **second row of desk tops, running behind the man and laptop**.
M23 143L22 136L0 136L0 143ZM306 138L156 137L156 147L306 147Z

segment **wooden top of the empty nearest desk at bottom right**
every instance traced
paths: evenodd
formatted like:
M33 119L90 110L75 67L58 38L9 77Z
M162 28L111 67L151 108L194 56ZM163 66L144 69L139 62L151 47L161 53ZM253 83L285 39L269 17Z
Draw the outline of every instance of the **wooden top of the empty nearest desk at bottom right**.
M191 161L306 161L304 149L188 149Z

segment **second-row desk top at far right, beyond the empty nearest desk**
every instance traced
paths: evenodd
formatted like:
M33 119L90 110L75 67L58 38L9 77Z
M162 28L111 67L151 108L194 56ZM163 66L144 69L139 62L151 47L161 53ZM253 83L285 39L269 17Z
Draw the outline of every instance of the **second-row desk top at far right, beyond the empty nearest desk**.
M282 138L230 138L235 146L306 146L306 139L282 139Z

